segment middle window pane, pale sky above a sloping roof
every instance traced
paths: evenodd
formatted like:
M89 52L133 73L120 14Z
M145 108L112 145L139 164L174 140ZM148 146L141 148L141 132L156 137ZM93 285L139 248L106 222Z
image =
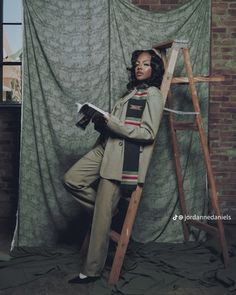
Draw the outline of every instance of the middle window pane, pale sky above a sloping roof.
M20 52L19 52L20 51ZM3 26L3 59L16 61L22 51L22 25Z

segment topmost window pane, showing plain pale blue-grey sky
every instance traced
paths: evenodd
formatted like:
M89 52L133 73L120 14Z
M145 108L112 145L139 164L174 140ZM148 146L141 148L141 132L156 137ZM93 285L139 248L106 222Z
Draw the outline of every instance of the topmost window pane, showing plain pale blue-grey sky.
M22 22L22 0L3 0L3 22Z

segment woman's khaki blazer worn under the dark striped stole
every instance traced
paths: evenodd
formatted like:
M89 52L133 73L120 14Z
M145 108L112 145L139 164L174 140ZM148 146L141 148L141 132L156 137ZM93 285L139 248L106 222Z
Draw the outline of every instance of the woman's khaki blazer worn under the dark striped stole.
M156 87L147 89L148 96L140 127L124 124L128 100L137 90L121 98L114 106L107 127L111 136L107 140L100 175L106 179L121 180L124 158L124 139L141 144L139 158L139 183L144 183L148 165L152 156L154 139L160 125L164 102L160 90ZM114 136L112 136L114 134Z

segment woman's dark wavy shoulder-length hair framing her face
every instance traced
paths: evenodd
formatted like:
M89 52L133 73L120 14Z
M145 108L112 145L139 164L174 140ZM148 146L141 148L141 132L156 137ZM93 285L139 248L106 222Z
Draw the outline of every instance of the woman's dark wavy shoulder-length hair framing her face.
M135 77L135 67L136 62L139 57L139 55L143 52L149 53L151 55L151 67L152 67L152 75L147 80L139 81ZM131 64L132 67L130 70L130 81L127 84L127 89L131 90L134 87L150 87L150 86L156 86L160 88L163 74L164 74L164 64L162 59L157 55L157 53L150 49L150 50L135 50L132 53L131 57Z

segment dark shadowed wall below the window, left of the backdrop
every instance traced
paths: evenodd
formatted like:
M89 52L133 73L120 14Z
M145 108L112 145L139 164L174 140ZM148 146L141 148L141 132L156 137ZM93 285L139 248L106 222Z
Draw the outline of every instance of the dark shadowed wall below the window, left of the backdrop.
M0 233L13 230L18 198L20 107L0 107Z

